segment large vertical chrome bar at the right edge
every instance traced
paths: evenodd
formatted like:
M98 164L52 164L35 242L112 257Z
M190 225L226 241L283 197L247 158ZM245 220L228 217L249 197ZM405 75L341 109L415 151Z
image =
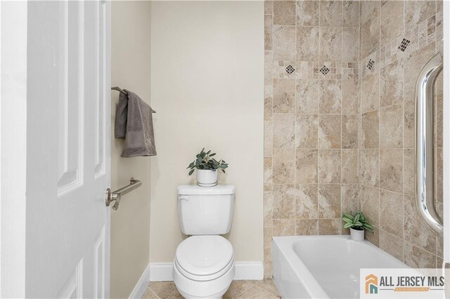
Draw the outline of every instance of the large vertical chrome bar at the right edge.
M425 223L442 236L442 219L435 208L435 143L433 89L442 71L442 53L431 58L416 82L416 207Z

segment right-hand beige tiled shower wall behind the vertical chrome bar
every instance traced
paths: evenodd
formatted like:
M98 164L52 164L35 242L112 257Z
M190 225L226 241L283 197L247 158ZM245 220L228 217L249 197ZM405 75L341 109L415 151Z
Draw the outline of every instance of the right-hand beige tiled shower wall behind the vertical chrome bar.
M411 267L441 267L442 238L414 198L414 93L442 39L442 1L361 1L361 211L369 241ZM442 76L436 87L436 206L442 215Z

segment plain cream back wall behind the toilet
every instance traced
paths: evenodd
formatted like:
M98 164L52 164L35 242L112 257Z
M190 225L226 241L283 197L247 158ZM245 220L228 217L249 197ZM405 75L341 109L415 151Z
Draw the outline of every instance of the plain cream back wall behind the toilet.
M262 1L152 3L150 262L171 262L183 240L176 186L202 147L229 162L236 185L229 240L237 261L263 260Z

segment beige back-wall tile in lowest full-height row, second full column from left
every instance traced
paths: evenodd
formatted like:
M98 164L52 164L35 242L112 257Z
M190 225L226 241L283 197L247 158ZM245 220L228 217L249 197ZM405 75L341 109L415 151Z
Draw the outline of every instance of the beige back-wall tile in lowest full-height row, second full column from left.
M317 206L317 184L297 185L295 218L315 219L319 217Z

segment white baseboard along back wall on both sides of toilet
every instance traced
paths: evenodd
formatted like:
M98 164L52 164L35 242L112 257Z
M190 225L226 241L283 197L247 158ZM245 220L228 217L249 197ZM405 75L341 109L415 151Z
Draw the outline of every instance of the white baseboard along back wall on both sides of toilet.
M264 265L261 262L236 262L234 280L261 280ZM150 263L150 281L172 281L172 263Z

